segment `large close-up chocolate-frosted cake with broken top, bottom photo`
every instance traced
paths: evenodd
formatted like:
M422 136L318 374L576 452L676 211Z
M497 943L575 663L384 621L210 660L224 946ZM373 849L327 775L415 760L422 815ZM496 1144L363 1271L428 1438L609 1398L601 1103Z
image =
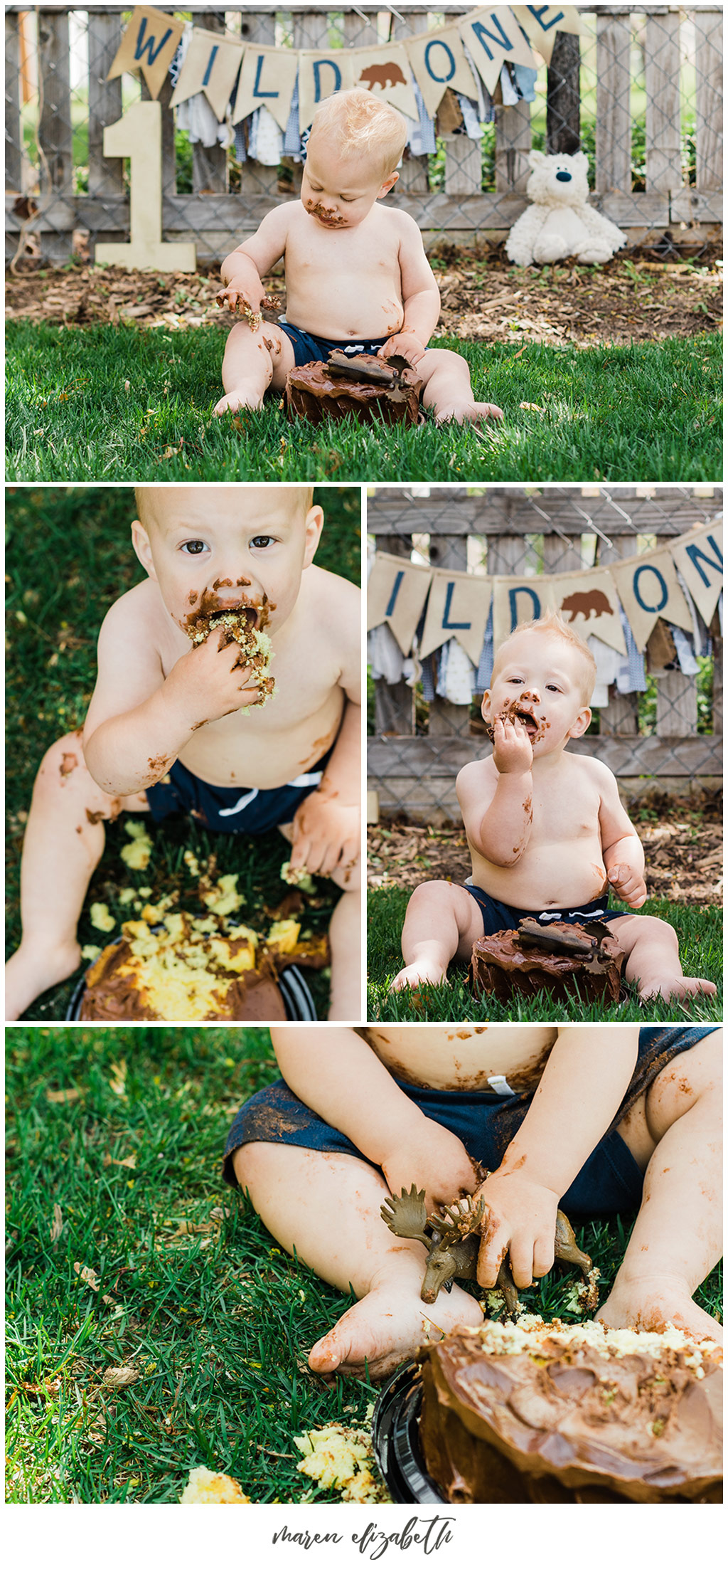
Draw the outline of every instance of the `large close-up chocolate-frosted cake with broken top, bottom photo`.
M485 1322L419 1350L447 1501L719 1501L722 1349L668 1327Z

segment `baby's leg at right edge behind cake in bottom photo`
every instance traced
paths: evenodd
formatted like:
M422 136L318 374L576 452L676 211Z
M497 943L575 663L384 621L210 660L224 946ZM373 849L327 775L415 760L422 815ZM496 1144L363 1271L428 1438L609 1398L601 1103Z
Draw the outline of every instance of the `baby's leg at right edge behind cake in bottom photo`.
M670 1060L618 1130L645 1187L599 1319L645 1331L673 1322L722 1342L719 1322L692 1298L720 1259L722 1033Z

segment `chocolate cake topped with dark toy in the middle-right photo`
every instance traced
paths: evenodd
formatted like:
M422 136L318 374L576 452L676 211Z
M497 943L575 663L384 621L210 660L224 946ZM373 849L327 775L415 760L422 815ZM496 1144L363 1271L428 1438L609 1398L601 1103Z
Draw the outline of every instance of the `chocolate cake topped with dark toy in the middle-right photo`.
M576 943L574 943L576 940ZM548 989L554 998L620 998L624 951L606 923L521 923L472 946L469 982L507 1005L513 994Z

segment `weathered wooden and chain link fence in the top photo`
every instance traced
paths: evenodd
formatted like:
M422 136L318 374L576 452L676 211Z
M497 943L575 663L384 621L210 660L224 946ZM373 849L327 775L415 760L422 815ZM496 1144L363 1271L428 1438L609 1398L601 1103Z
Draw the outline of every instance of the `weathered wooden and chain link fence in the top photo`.
M722 13L719 6L592 6L582 36L559 33L535 97L496 88L480 141L457 96L438 115L436 151L405 156L389 198L417 220L427 244L499 242L522 212L529 151L590 159L599 209L631 247L701 256L722 220ZM463 11L361 5L275 5L177 16L243 42L292 49L384 44L450 22ZM130 8L6 8L6 255L66 261L97 239L129 236L129 173L104 159L104 127L147 90L135 75L107 82ZM295 196L300 163L240 162L235 149L190 143L163 108L162 189L166 241L196 241L198 261L224 256L278 201ZM504 101L505 99L505 101ZM460 119L460 124L458 124Z

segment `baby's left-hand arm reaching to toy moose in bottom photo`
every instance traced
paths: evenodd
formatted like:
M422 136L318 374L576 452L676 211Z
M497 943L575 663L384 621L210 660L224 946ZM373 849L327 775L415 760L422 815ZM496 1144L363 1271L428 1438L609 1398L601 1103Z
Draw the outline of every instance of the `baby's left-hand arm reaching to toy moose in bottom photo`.
M383 1168L394 1195L416 1184L431 1210L474 1190L463 1143L419 1111L351 1027L329 1027L314 1041L304 1027L271 1027L270 1036L290 1089Z

